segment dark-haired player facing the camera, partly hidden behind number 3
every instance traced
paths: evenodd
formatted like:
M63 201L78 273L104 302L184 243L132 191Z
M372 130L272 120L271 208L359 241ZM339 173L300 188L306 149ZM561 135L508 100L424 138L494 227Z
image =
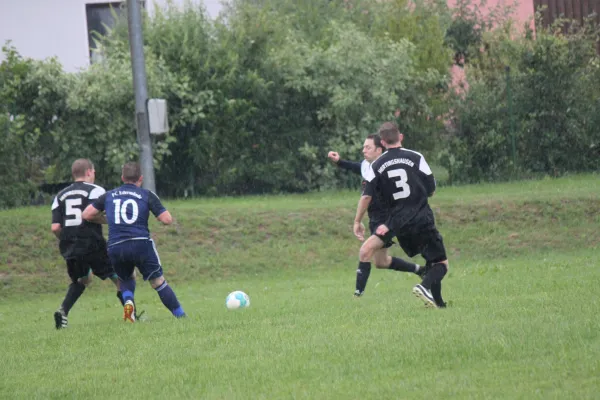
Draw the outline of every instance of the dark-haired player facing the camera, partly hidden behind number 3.
M346 161L340 160L340 155L335 151L330 151L327 155L329 159L334 162L338 167L350 170L356 174L361 174L363 176L363 193L364 188L366 186L366 174L369 172L370 165L373 161L375 161L379 156L381 156L383 152L383 147L381 145L381 139L378 134L372 134L367 136L365 142L363 144L363 156L365 159L362 163L355 161ZM388 218L388 211L377 197L374 197L370 202L368 207L368 215L369 215L369 230L371 234L375 233L375 229L381 224L384 224ZM360 241L364 241L364 226L361 224L361 234L357 235ZM419 266L418 264L409 263L407 261L402 260L401 258L391 257L387 249L393 245L392 239L390 238L383 245L383 248L380 248L373 253L373 260L375 261L375 266L381 269L392 269L394 271L403 271L403 272L413 272L417 275L420 275L425 271L424 268ZM369 275L371 274L371 263L370 259L366 262L360 262L358 264L358 269L356 270L356 288L354 290L354 296L360 297L363 295L365 288L367 286L367 281L369 280Z

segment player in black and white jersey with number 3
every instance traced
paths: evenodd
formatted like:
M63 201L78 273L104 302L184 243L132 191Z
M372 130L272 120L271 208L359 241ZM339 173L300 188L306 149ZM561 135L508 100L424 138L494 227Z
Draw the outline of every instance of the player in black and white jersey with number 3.
M413 293L427 306L445 307L441 281L448 271L448 260L428 202L436 187L433 173L423 155L402 147L403 135L395 124L384 123L379 135L387 151L367 172L367 186L356 210L354 232L358 236L364 231L361 221L375 196L381 196L389 216L361 248L360 262L367 262L396 236L409 257L421 254L427 263L428 271Z

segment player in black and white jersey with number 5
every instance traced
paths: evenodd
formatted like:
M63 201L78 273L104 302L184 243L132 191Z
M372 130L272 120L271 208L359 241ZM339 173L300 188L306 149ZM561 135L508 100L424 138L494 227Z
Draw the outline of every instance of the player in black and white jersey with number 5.
M105 190L94 185L96 171L88 159L73 162L71 173L74 182L61 190L52 202L52 233L59 239L60 253L67 263L71 284L67 294L54 313L56 329L66 328L69 311L92 282L90 272L102 280L109 278L117 287L117 297L125 304L119 291L117 275L106 252L106 241L102 236L104 218L97 215L86 221L82 211Z

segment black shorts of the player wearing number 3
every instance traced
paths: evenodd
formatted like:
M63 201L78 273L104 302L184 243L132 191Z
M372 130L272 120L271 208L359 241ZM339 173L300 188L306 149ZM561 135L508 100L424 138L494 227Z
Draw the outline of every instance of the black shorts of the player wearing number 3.
M433 223L415 227L404 226L398 231L402 233L396 235L395 230L390 229L385 236L377 237L387 243L395 236L402 250L411 258L420 254L431 264L447 259L444 240Z

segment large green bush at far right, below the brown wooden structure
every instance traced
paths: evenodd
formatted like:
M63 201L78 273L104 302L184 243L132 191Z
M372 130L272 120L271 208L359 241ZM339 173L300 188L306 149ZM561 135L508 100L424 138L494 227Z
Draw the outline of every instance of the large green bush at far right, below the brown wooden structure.
M485 50L466 67L469 89L454 101L440 154L452 181L600 166L598 31L587 26L564 34L563 23L538 29L535 37L506 25L484 35Z

